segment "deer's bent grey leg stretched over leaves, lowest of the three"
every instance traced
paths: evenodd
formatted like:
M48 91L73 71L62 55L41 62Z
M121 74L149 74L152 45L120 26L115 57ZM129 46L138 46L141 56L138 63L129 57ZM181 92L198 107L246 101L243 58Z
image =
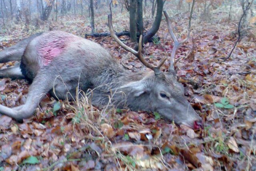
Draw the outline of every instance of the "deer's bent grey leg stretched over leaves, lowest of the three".
M46 93L52 89L53 80L54 77L56 77L54 73L54 71L49 71L49 69L39 71L29 88L25 104L14 108L0 105L0 113L19 122L31 117L39 105L39 102L45 97Z

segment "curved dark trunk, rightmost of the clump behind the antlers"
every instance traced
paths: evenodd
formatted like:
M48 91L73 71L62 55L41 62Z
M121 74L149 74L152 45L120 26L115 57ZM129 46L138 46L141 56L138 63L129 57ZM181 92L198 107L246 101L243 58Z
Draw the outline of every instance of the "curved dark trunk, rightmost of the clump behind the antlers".
M154 23L150 30L148 30L147 34L143 38L143 44L148 43L148 41L151 40L151 38L156 34L160 27L161 19L162 19L162 13L163 13L163 7L164 2L163 0L156 0L157 8L156 8L156 18L154 20Z

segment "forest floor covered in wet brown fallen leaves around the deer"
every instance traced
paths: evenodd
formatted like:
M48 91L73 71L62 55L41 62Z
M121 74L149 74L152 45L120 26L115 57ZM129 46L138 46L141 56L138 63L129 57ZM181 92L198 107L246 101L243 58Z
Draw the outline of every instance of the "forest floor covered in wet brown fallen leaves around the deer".
M178 39L187 35L189 12L173 15ZM120 13L120 12L119 12ZM237 14L238 15L238 14ZM222 17L220 17L222 16ZM256 31L255 24L237 40L238 16L227 18L225 8L211 12L208 20L194 14L190 40L177 51L177 76L185 95L204 119L193 130L144 111L97 109L86 97L76 102L44 99L35 116L18 124L0 116L0 170L256 170ZM116 31L129 28L128 13L113 15ZM98 32L107 32L107 15L95 16ZM65 16L49 19L40 29L9 22L0 30L0 48L9 47L35 32L63 30L84 37L91 32L88 18ZM150 28L153 19L145 15ZM170 56L172 39L162 18L160 40L144 46L152 64ZM110 37L88 37L108 49L129 69L147 70ZM121 37L130 47L128 37ZM14 62L0 64L0 68ZM164 71L168 66L162 67ZM24 104L25 80L0 79L0 104Z

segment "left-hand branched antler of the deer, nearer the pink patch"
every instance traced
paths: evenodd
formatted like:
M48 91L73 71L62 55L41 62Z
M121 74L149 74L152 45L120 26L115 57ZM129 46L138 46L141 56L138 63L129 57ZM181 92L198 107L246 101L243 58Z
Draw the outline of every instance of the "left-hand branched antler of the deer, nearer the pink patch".
M135 55L140 62L145 65L146 67L152 69L156 74L160 73L160 67L164 64L164 62L166 61L167 57L165 57L157 66L153 66L151 64L149 64L143 57L142 57L142 35L140 35L140 41L139 41L139 50L135 51L134 49L126 46L116 35L114 29L113 29L113 25L112 25L112 14L108 15L108 27L109 27L109 31L111 36L115 39L116 43L118 43L122 48L124 48L126 51L131 52L133 55Z

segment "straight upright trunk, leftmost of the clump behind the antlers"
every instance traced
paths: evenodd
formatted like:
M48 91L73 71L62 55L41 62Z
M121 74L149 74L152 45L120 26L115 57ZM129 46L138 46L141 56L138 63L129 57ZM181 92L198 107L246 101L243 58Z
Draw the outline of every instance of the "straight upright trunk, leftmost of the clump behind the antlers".
M137 27L136 27L136 0L130 0L129 5L129 13L130 13L130 33L131 33L131 41L137 42Z

